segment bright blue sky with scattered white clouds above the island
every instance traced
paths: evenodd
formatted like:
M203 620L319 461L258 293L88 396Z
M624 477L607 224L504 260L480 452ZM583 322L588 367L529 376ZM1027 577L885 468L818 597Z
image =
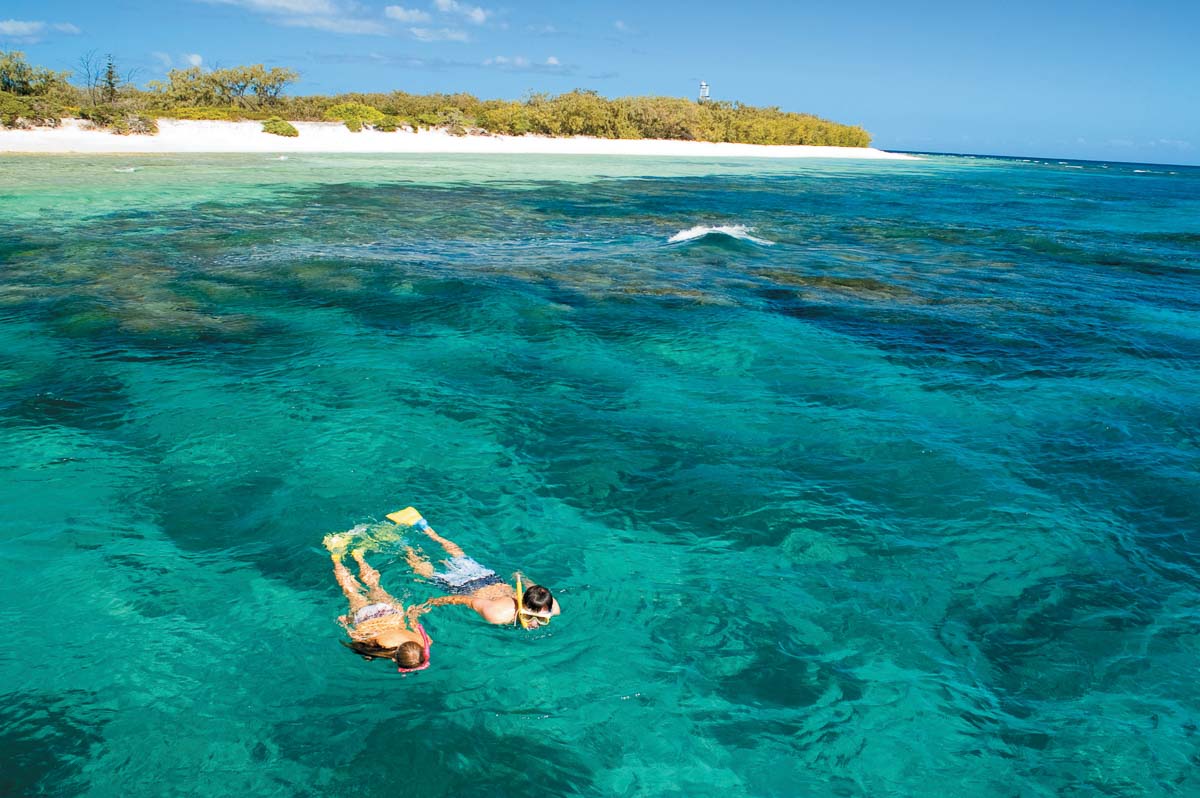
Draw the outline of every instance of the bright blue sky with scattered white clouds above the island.
M835 6L835 7L834 7ZM293 91L713 96L888 149L1200 163L1200 1L5 0L0 48L72 68L296 68Z

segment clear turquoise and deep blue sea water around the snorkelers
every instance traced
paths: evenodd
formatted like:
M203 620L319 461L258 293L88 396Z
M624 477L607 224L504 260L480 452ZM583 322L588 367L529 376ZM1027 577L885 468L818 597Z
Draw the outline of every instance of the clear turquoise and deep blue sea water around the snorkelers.
M1200 790L1198 169L6 157L0 264L0 792ZM406 504L562 622L344 652Z

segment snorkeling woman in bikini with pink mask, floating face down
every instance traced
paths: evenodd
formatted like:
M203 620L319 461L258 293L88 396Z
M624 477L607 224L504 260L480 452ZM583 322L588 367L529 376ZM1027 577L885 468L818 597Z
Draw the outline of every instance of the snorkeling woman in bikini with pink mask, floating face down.
M401 673L424 671L430 666L430 646L433 641L416 619L430 608L414 605L404 610L401 601L379 587L379 571L367 565L361 550L356 548L350 554L359 564L362 583L368 588L364 596L362 584L342 564L347 542L348 536L344 534L325 535L324 540L334 560L334 576L350 601L349 614L337 619L352 641L343 642L343 646L367 660L394 660Z

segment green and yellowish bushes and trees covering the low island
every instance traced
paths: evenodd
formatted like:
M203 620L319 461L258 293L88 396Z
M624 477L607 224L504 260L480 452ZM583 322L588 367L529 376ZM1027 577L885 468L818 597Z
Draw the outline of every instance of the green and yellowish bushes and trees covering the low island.
M0 52L0 125L56 126L84 119L116 133L154 133L158 119L257 120L266 132L298 134L293 121L340 121L350 131L440 128L456 136L594 136L745 144L868 146L862 127L811 114L738 102L682 97L616 97L576 89L522 100L406 91L289 96L294 70L260 64L172 70L144 88L122 77L112 58L80 59L74 72L30 65L20 52Z

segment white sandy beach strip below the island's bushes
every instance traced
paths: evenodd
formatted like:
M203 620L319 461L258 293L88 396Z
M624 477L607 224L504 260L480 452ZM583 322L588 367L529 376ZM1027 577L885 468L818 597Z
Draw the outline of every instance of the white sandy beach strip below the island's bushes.
M859 146L766 146L660 139L601 139L544 136L450 136L442 131L352 133L338 122L294 122L300 136L263 132L262 122L158 121L157 136L116 136L83 130L74 119L61 127L0 130L0 154L174 152L461 152L534 155L653 155L679 157L870 158L913 156Z

